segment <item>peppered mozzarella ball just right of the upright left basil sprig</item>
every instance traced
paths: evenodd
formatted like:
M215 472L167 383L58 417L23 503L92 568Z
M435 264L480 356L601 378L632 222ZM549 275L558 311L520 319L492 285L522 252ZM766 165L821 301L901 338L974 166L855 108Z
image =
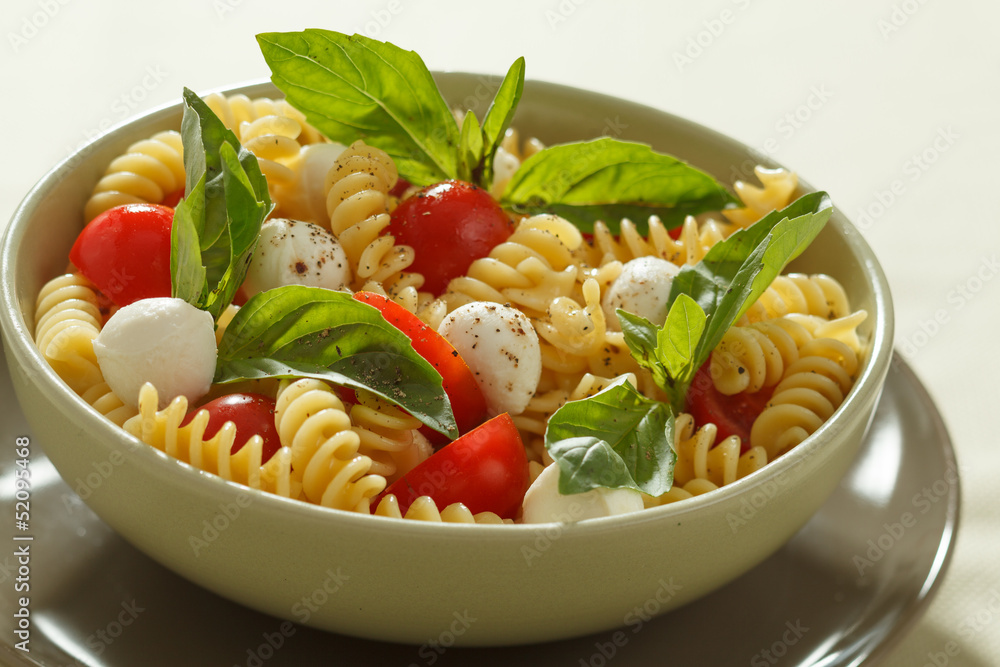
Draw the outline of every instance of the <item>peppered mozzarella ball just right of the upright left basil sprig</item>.
M247 296L282 285L342 289L351 282L347 255L337 239L311 222L275 218L260 228L247 269Z

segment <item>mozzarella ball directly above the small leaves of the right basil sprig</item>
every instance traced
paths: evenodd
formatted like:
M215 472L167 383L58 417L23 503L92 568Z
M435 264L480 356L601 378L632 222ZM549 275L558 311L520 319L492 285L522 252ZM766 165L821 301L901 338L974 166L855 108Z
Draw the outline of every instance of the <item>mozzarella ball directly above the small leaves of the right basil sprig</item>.
M619 275L601 299L608 328L621 331L615 311L618 308L645 317L662 326L667 321L670 286L680 267L659 257L637 257L625 263Z

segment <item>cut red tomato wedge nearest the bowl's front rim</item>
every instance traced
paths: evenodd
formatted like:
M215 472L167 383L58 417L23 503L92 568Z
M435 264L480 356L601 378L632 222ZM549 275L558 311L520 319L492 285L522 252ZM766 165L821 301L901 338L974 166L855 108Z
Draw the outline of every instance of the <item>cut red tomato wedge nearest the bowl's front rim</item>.
M466 433L393 482L406 514L420 496L430 496L439 510L464 503L473 514L493 512L513 519L528 490L528 458L514 420L506 412ZM378 506L378 500L373 507Z

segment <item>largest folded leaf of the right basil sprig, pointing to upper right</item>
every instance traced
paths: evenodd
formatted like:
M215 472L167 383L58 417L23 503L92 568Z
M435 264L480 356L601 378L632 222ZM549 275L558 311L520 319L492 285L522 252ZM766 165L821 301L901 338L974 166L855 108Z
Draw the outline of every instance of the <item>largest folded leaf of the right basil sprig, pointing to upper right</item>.
M825 192L805 195L715 244L694 266L681 269L668 302L672 306L681 294L687 294L708 317L694 370L788 262L819 234L832 212Z

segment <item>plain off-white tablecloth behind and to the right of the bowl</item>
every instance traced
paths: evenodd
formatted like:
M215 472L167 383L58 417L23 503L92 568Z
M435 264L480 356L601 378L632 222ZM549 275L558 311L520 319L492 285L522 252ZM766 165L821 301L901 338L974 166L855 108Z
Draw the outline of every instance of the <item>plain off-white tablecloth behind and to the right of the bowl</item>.
M416 50L431 69L590 88L693 119L828 190L894 290L897 347L943 412L963 482L943 588L886 664L1000 662L1000 6L969 0L6 0L0 224L100 130L267 76L253 36L323 27ZM993 606L991 606L993 605ZM989 622L985 622L987 620ZM970 619L978 618L973 626ZM945 647L956 655L945 656Z

